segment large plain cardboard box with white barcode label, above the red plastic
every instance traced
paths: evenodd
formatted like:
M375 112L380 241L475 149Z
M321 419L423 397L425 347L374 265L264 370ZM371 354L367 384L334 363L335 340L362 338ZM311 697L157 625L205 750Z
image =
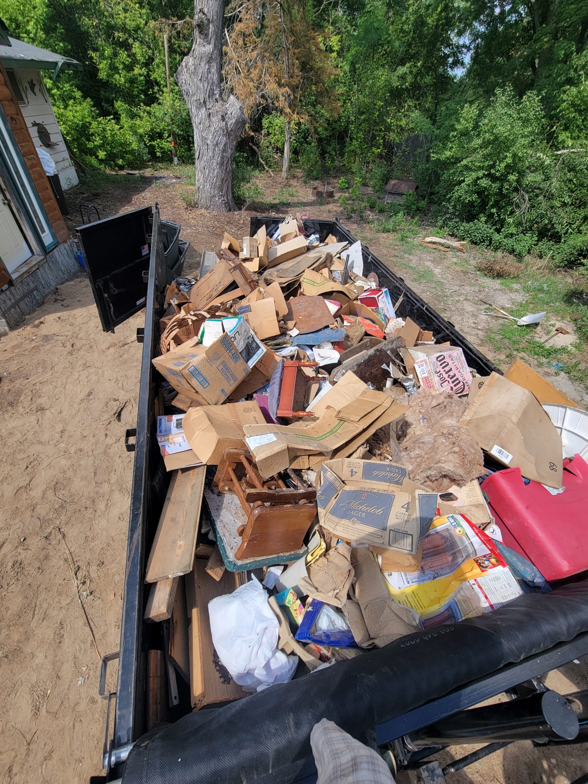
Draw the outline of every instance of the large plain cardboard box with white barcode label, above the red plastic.
M561 436L532 392L492 373L459 424L485 452L527 479L560 488Z

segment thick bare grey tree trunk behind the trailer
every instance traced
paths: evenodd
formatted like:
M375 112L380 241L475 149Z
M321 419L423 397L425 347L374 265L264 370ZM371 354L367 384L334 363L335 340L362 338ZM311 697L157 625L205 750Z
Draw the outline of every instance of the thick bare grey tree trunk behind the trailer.
M176 84L194 127L194 197L203 209L236 209L231 192L234 149L247 119L234 96L223 100L223 0L194 4L194 45L176 71Z

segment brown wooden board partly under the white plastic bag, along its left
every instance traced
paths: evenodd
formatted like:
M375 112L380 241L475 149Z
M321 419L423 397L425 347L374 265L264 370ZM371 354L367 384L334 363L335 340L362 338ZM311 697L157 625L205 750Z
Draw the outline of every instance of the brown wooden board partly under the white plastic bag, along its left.
M188 580L193 583L191 590L186 591L188 600L192 601L188 635L191 705L194 710L199 710L206 705L246 697L245 691L233 681L216 654L209 620L209 601L225 593L233 593L241 585L241 578L237 573L227 571L217 583L206 573L205 562L197 560Z

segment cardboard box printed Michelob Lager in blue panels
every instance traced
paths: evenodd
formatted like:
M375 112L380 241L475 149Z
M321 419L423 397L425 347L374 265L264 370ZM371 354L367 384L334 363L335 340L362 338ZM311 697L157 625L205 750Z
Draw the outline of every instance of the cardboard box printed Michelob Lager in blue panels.
M416 554L437 514L437 493L394 463L329 460L322 465L317 506L322 527L333 535Z

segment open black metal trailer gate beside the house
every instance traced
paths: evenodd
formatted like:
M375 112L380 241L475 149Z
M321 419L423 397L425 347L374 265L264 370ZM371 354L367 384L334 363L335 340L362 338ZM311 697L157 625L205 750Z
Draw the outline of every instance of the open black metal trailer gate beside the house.
M104 332L145 304L151 214L151 206L140 207L76 229Z

